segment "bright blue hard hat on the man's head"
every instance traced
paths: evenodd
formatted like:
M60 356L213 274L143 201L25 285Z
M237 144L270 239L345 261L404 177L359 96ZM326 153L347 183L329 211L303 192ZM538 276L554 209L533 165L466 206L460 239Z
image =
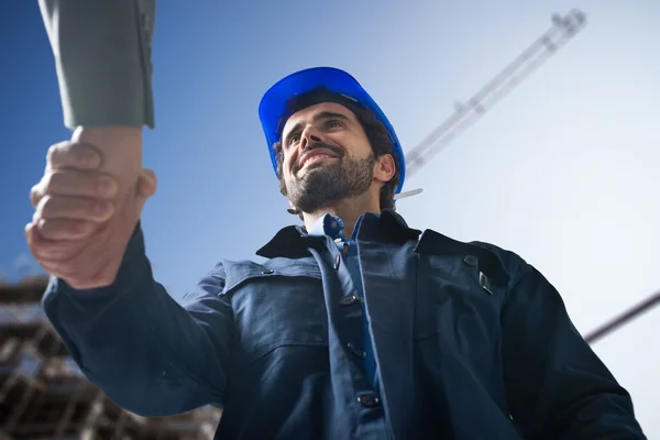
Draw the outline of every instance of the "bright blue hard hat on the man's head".
M394 156L399 168L400 182L396 193L400 193L404 186L404 177L406 176L406 161L394 128L385 117L385 113L383 113L383 110L369 96L366 90L360 86L355 78L333 67L314 67L296 72L277 81L264 94L258 105L258 118L266 135L268 153L271 154L275 174L277 174L277 154L273 145L282 138L282 130L285 122L282 119L283 117L288 117L286 114L288 100L320 87L355 100L360 106L373 111L376 119L385 125L389 134L389 140L394 145Z

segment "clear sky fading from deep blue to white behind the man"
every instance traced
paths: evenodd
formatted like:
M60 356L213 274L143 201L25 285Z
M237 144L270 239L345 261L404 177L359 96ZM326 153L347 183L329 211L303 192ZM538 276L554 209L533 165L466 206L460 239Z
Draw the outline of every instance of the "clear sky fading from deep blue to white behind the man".
M660 288L660 3L583 0L161 1L156 130L145 165L160 187L143 222L155 275L175 298L219 258L253 258L286 213L256 116L294 70L352 73L410 150L550 26L588 25L405 189L410 226L513 250L562 294L587 332ZM36 1L0 2L0 267L30 271L23 226L51 143L66 139ZM594 350L660 438L660 308Z

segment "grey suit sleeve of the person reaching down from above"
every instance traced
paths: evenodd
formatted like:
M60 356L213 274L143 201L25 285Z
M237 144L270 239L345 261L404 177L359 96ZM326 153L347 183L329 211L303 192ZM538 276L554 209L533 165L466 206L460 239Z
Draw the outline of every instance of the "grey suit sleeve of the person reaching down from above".
M154 128L155 0L38 0L64 124Z

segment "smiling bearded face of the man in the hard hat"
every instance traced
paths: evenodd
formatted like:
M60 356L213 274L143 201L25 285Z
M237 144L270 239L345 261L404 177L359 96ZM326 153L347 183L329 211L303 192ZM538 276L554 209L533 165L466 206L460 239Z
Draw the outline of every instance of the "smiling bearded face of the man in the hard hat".
M283 176L290 202L315 212L370 188L376 158L355 114L322 102L292 114L282 132Z

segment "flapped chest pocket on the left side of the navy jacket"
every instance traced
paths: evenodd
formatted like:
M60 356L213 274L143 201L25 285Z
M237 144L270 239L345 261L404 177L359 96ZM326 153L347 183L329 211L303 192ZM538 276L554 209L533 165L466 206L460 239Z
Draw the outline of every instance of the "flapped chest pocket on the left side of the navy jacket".
M284 258L283 258L284 260ZM316 263L272 260L226 263L228 296L238 326L238 352L254 361L284 345L327 345L328 317Z

